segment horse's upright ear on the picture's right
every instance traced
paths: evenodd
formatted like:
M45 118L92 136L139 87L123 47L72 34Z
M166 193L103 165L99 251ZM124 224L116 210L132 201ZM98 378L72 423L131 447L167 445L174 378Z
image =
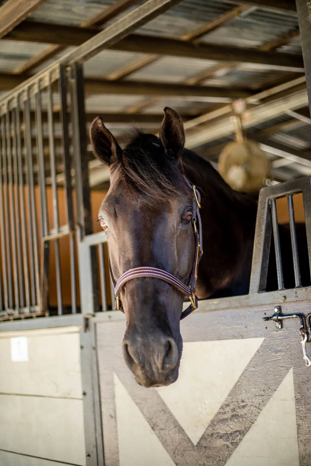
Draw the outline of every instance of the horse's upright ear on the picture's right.
M178 113L169 107L164 109L159 135L167 155L178 158L185 145L184 125Z

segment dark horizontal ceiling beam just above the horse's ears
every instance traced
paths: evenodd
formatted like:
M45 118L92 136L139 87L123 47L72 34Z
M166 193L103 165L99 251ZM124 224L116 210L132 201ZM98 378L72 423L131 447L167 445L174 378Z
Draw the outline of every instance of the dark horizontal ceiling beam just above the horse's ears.
M0 90L9 90L21 84L28 75L0 74ZM86 78L84 80L86 93L91 94L129 94L136 96L202 96L212 98L238 99L250 96L248 89L223 89L207 86L185 86L183 84L168 84L139 81L109 81L105 79Z

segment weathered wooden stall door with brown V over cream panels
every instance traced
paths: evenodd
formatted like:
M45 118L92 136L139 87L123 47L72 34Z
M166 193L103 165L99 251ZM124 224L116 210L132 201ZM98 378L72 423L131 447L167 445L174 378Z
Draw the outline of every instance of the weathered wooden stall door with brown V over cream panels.
M105 466L310 466L311 368L298 319L277 330L263 321L273 312L194 312L181 322L179 379L156 389L125 366L124 319L98 322Z

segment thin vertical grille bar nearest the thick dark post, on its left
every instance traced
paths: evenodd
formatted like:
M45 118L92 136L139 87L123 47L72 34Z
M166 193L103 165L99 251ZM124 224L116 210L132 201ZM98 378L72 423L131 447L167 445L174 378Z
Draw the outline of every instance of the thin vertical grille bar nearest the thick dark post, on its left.
M52 85L48 84L48 146L50 154L51 181L52 181L52 198L53 198L53 226L55 232L59 231L58 217L58 199L56 184L56 159L55 159L55 141L54 141L54 121L53 121L53 95ZM59 241L55 240L55 267L56 267L56 290L57 290L57 314L62 315L62 281L61 281L61 263L59 255Z

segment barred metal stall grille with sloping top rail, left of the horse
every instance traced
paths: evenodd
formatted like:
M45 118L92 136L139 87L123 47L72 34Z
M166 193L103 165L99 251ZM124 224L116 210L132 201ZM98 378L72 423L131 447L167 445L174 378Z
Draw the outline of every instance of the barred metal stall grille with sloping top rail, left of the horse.
M76 286L76 254L79 257L79 244L92 233L82 63L180 1L148 0L1 97L1 320L79 310L79 288L85 295L87 286L83 281ZM68 289L62 289L61 277L65 238L70 274L66 305L63 298ZM106 292L104 249L98 243L90 246L92 286L88 291L94 309L106 310L112 291ZM80 278L82 263L79 258ZM55 274L53 293L51 274ZM81 302L85 313L83 296Z

